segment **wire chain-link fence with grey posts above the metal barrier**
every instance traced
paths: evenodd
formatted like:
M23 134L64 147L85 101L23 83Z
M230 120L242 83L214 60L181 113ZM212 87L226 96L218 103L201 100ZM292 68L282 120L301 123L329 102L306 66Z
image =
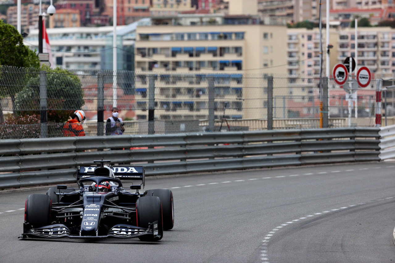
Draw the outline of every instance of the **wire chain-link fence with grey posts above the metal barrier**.
M126 120L124 134L319 128L319 83L318 76L271 77L226 71L113 74L0 66L0 106L14 115L48 111L48 137L63 136L64 122L76 109L87 115L83 124L86 135L101 135L104 125L98 113L105 122L115 105ZM329 127L348 126L347 85L329 80ZM357 89L352 126L374 126L375 91L376 80ZM1 139L40 137L40 129L39 123L1 124Z

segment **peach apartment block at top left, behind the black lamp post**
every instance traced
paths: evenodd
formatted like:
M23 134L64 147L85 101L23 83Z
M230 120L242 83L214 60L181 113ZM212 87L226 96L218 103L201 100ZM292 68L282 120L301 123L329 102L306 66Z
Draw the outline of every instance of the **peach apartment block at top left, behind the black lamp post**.
M43 4L42 10L47 10L49 5ZM29 30L29 27L38 28L38 14L40 12L40 6L36 4L28 4L21 6L21 28L25 31ZM10 6L7 9L7 23L17 27L17 6Z

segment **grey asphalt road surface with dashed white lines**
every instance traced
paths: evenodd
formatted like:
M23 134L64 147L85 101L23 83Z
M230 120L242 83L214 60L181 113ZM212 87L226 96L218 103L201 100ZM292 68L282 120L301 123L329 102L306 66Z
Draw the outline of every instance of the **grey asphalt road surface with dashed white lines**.
M173 191L159 242L17 239L33 193L0 194L0 262L394 262L395 163L260 169L146 180Z

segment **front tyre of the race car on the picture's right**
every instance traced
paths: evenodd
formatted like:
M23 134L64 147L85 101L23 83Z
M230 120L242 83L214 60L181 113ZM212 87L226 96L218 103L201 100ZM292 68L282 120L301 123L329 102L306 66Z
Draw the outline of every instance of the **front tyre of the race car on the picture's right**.
M159 241L163 237L163 218L162 218L162 202L157 196L139 197L136 202L137 226L148 228L149 223L158 221L158 236L144 235L140 236L141 241Z

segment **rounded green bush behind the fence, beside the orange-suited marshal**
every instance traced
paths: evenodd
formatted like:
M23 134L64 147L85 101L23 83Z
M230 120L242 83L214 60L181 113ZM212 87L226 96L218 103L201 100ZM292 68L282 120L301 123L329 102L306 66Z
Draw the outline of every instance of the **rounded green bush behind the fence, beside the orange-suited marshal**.
M48 122L64 122L70 111L81 109L84 105L81 81L66 69L43 67L42 70L47 71ZM15 104L21 115L39 114L40 74L36 73L29 79L18 93Z

